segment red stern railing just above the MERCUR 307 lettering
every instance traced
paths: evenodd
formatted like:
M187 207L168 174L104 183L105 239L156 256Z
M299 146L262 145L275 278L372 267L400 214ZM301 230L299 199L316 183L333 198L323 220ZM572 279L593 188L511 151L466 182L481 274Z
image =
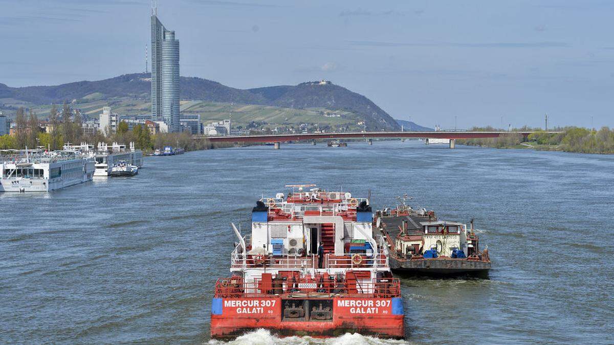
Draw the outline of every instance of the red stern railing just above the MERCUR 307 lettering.
M215 295L223 298L392 298L400 297L401 284L398 278L352 279L346 276L337 281L335 276L326 279L317 275L313 279L268 279L256 278L244 281L241 277L217 279Z

